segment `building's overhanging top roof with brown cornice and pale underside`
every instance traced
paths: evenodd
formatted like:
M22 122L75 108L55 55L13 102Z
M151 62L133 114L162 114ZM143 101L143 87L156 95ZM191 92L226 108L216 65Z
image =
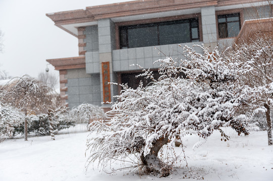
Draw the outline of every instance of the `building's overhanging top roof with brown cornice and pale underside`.
M264 0L139 0L124 3L86 7L85 10L73 10L46 14L56 26L78 36L77 28L96 25L97 20L111 18L116 22L136 19L150 19L162 16L200 13L201 7L215 6L227 9L251 7ZM240 7L242 6L242 7ZM169 13L168 13L169 12ZM170 13L173 12L173 13ZM159 14L160 13L160 14ZM141 15L141 16L140 16Z

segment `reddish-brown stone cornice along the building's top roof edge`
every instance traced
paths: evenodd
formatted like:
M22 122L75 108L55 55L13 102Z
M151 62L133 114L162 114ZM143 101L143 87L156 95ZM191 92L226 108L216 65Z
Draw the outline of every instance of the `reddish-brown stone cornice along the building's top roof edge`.
M75 35L62 25L94 22L105 18L116 18L133 15L143 15L168 11L186 10L207 6L231 6L249 4L257 2L267 2L264 0L139 0L132 2L116 3L109 5L87 7L86 10L74 10L46 14L56 26ZM80 35L83 36L83 35Z

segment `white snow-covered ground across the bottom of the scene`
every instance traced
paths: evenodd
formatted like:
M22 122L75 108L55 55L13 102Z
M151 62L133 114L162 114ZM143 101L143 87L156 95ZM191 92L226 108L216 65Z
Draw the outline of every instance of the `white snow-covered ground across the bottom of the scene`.
M49 136L9 139L0 143L0 180L181 180L183 169L172 176L158 178L119 171L113 175L99 172L96 166L84 169L85 126L64 130L51 141ZM224 142L220 133L213 133L207 142L192 150L199 138L183 138L189 167L204 180L273 180L273 146L267 146L267 134L251 132L237 136L229 131L231 140ZM182 148L175 148L179 155ZM183 156L183 154L181 155ZM185 162L181 162L182 166ZM114 165L115 167L120 164ZM187 174L189 176L189 174ZM193 179L185 179L193 180Z

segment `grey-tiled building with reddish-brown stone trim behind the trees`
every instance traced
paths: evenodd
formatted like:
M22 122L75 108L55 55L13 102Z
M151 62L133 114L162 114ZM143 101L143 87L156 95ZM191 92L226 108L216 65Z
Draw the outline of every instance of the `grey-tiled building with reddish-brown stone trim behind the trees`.
M134 75L140 69L130 64L157 68L157 59L183 56L178 44L232 45L238 35L247 36L246 20L253 20L247 26L259 24L254 19L272 22L272 6L254 0L140 0L46 16L79 40L78 57L46 60L60 71L64 103L109 107L101 102L114 101L120 87L108 82L139 81Z

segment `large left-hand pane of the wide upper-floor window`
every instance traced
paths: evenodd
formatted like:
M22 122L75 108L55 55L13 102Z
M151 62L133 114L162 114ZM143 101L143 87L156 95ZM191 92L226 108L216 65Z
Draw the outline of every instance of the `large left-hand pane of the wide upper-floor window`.
M157 45L157 27L128 29L128 44L130 48Z

